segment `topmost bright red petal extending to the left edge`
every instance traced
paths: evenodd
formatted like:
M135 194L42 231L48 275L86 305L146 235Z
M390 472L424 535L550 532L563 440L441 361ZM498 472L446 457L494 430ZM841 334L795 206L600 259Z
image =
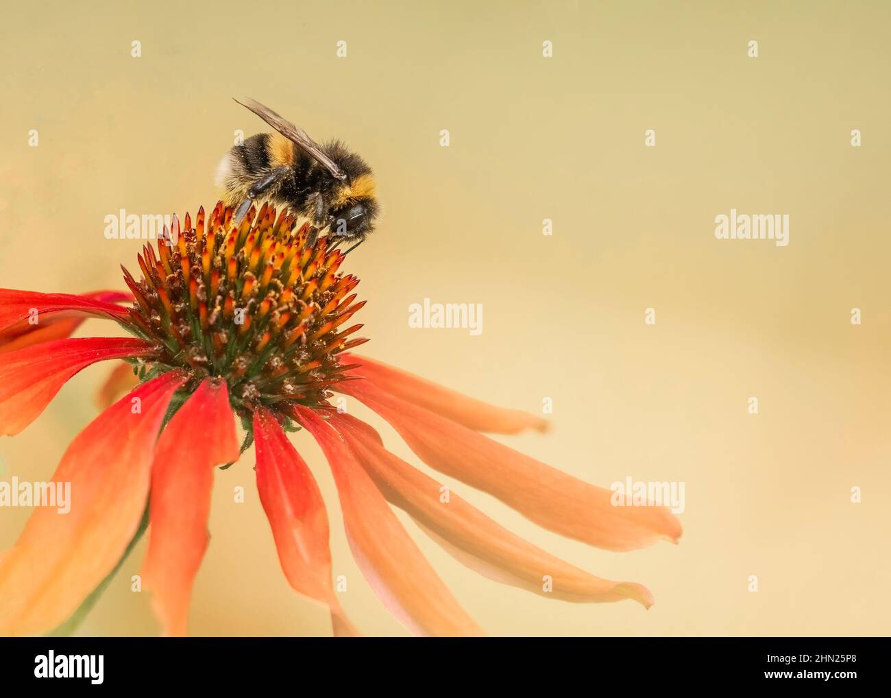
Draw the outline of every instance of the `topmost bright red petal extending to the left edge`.
M127 293L99 291L81 296L70 293L38 293L0 289L0 330L22 320L34 318L39 324L43 316L67 313L74 316L107 317L126 322L127 308L115 305L116 300L127 300Z

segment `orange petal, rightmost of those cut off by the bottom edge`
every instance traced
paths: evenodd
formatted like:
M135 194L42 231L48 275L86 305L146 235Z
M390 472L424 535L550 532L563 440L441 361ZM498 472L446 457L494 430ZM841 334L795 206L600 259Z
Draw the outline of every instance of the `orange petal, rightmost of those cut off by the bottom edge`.
M356 563L390 612L417 635L482 634L338 432L307 407L298 406L297 414L331 464Z

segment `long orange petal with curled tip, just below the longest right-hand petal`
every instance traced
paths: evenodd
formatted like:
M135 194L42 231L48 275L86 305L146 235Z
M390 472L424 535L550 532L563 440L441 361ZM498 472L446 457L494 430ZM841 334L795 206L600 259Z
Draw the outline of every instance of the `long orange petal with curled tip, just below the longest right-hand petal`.
M355 417L337 415L331 423L384 497L410 514L421 529L471 569L565 601L613 602L631 598L647 608L652 605L653 597L647 587L601 579L565 563L514 535L454 493L443 501L439 482L382 448L367 431L358 428L362 423Z

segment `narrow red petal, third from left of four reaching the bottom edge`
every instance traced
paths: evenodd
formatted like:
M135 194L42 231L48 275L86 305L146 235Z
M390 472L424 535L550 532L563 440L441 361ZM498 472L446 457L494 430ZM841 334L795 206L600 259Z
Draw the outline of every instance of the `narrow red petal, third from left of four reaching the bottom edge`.
M291 587L331 610L334 635L358 633L331 586L328 513L313 473L265 407L254 412L257 491Z

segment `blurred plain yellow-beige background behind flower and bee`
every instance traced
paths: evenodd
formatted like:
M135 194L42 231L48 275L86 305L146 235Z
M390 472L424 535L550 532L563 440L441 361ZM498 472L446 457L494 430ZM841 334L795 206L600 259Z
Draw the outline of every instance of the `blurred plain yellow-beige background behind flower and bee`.
M0 286L122 288L119 264L134 268L142 242L106 240L103 218L212 208L233 132L268 130L231 97L257 98L376 171L383 218L346 267L369 300L365 353L504 406L552 398L550 434L503 441L584 480L686 483L679 546L614 554L446 479L525 537L656 596L644 612L529 595L409 522L488 632L887 634L887 3L197 5L7 7ZM789 246L716 240L732 208L789 214ZM410 329L425 297L482 303L483 333ZM0 440L4 477L51 477L109 368ZM295 443L329 505L347 613L368 634L404 634L349 555L321 452ZM253 475L251 453L217 474L192 634L326 634L326 613L279 569ZM0 547L26 514L0 510ZM83 634L158 631L148 595L130 591L143 554L144 542Z

